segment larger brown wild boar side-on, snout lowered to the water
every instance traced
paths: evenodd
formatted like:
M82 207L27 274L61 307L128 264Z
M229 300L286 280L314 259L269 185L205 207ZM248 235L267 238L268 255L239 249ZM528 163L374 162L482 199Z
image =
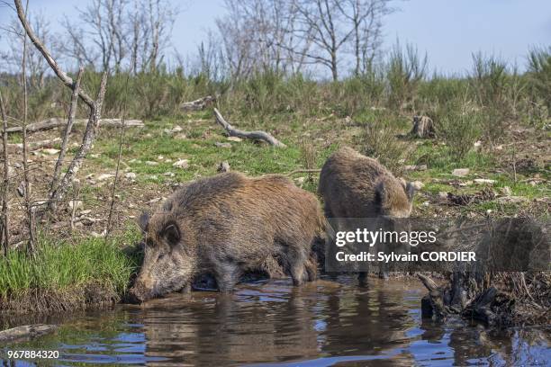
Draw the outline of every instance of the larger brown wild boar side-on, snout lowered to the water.
M143 301L185 289L200 273L229 292L242 273L274 259L294 284L312 281L324 218L316 197L283 176L226 173L186 183L140 227L145 257L131 296Z

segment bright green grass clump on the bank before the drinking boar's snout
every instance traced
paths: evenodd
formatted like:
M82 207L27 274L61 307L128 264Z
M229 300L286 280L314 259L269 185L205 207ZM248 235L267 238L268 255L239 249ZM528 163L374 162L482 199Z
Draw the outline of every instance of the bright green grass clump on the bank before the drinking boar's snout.
M90 283L122 294L140 259L126 255L121 243L131 244L136 238L132 231L107 242L104 237L70 243L41 236L34 257L15 249L0 257L0 299L14 299L32 290L67 291Z

